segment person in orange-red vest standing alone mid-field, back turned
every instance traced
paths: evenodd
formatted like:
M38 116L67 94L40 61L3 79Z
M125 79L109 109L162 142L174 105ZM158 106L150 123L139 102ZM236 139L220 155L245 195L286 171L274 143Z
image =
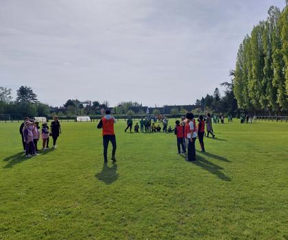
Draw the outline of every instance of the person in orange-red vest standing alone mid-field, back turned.
M97 128L102 128L103 136L103 148L104 148L104 163L107 163L107 149L109 141L112 143L112 158L113 163L116 162L115 153L116 153L116 137L114 133L114 123L115 117L110 116L110 110L106 110L105 116L99 121Z

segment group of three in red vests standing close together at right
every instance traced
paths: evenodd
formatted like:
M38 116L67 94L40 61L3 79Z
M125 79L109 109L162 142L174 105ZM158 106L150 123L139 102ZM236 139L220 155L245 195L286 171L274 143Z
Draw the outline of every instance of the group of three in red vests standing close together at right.
M202 152L205 152L204 147L204 135L205 135L205 119L203 115L200 115L197 119L198 124L194 119L194 115L191 112L188 112L186 119L182 121L176 121L176 126L174 133L177 138L177 148L178 154L186 154L187 160L194 161L195 159L195 141L198 136L200 147ZM213 135L215 136L215 135ZM182 149L182 151L181 151Z

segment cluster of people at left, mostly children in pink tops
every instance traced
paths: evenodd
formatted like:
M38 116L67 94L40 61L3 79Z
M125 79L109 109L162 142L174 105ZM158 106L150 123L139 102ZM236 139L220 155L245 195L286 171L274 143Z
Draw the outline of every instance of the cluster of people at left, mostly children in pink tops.
M53 125L55 125L55 121L51 123L52 128ZM23 149L26 157L38 155L38 141L40 141L40 136L43 140L43 150L49 149L49 136L53 137L53 147L56 147L55 134L53 134L53 130L49 132L47 123L42 123L42 129L40 130L37 121L25 117L24 122L20 126L20 134L22 136Z

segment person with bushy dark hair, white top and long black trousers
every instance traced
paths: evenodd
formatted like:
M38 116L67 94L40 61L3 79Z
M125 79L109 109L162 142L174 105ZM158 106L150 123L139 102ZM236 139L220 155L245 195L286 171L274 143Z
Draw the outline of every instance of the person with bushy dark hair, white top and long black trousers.
M186 118L189 120L189 133L187 135L189 142L188 142L188 161L195 161L196 158L196 150L195 150L195 141L197 137L197 132L196 132L196 123L194 119L194 115L192 112L187 112Z

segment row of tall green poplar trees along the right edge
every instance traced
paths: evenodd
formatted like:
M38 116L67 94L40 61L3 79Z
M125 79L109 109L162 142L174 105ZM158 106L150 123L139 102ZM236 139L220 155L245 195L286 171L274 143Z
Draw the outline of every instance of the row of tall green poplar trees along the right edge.
M238 107L249 111L288 110L288 1L270 7L266 21L254 26L239 46L233 92Z

